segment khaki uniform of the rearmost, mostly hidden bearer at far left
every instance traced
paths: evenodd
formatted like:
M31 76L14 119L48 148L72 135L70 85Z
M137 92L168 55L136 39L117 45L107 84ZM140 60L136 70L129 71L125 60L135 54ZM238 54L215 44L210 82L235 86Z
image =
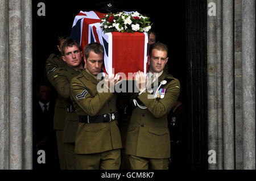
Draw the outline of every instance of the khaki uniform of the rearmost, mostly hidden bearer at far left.
M60 55L51 54L46 60L46 72L47 78L52 86L55 85L53 80L54 71L57 68L65 68L67 64L61 59ZM64 130L64 119L67 114L64 100L58 96L55 102L55 113L53 119L53 128L56 130L57 147L59 152L60 169L65 169L65 155L64 155L64 144L63 144L63 130Z

